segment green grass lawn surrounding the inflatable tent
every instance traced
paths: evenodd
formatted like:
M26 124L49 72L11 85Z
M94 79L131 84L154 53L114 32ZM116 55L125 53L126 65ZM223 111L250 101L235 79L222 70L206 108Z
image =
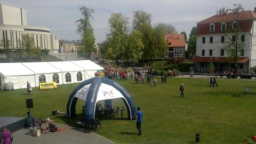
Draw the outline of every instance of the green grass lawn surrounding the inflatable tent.
M254 80L218 79L219 87L209 87L207 78L168 78L166 84L157 79L151 84L135 84L133 80L119 84L132 95L136 107L141 107L144 118L142 135L138 136L136 121L119 117L102 118L102 130L95 133L116 143L250 143L256 135ZM185 98L180 98L179 87L185 85ZM76 105L76 118L61 114L51 116L52 110L66 112L69 94L79 85L58 85L57 90L26 89L1 91L0 116L27 117L26 98L33 98L31 114L37 118L50 118L57 123L75 125L82 116L83 100ZM244 90L250 87L248 94ZM114 108L122 107L121 99L114 99ZM126 111L125 111L126 112ZM127 114L124 113L124 117Z

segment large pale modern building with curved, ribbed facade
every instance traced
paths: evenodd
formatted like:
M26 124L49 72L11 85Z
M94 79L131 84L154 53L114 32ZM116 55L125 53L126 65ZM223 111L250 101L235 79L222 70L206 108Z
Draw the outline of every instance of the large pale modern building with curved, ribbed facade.
M0 40L10 40L11 49L17 49L21 35L26 34L33 37L35 47L58 53L59 36L51 35L50 31L50 28L28 26L26 9L0 4Z

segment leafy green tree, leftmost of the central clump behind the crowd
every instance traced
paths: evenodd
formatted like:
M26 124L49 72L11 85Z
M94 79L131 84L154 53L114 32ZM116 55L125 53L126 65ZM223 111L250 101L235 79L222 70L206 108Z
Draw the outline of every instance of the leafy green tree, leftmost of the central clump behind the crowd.
M119 62L124 60L126 54L129 18L125 18L121 13L113 13L111 18L108 19L108 23L110 34L107 35L109 44L106 56L115 60L117 66L119 66Z

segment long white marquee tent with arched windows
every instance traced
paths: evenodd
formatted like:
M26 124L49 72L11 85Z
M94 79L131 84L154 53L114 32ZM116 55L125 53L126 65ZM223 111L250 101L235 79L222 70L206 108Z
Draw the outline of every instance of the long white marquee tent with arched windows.
M42 79L45 76L46 82L53 82L53 75L58 75L57 84L77 83L94 77L97 70L103 69L90 60L0 63L0 87L9 82L13 83L14 89L26 88L27 82L34 87L39 85L39 77ZM67 81L67 78L71 80Z

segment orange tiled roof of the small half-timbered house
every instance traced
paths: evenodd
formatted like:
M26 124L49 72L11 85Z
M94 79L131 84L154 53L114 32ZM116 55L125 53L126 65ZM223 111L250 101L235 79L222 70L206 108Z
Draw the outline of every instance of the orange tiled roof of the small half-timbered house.
M168 47L185 47L184 34L166 34L164 35L165 41L171 43Z

